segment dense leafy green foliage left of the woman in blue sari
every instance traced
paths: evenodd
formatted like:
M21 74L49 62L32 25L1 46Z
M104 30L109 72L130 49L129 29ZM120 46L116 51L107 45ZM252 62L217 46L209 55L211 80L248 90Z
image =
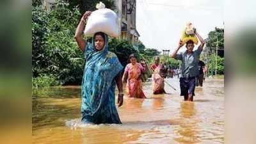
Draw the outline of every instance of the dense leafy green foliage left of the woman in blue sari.
M77 49L74 32L81 13L57 3L47 13L41 6L32 8L33 77L48 75L60 84L81 83L83 54ZM51 78L52 79L52 78Z

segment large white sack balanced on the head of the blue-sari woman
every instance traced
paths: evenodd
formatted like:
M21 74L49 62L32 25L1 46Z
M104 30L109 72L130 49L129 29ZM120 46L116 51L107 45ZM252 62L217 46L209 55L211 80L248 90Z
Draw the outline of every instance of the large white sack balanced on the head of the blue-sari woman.
M118 36L117 15L113 10L105 8L105 4L100 2L95 10L88 17L84 35L92 36L94 33L103 32L109 36Z

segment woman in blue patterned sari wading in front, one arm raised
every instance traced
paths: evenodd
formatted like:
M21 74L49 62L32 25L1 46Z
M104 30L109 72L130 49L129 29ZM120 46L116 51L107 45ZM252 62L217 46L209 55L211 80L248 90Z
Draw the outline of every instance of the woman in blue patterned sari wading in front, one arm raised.
M86 64L82 79L82 122L93 124L122 124L115 106L115 85L118 86L118 107L123 104L122 65L108 51L108 35L95 33L92 44L82 38L87 17L85 12L76 29L76 41L84 52Z

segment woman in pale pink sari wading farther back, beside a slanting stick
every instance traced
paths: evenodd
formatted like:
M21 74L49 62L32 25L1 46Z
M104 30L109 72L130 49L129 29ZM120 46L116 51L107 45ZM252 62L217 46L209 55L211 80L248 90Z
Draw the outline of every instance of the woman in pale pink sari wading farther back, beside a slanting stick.
M159 57L154 58L154 64L151 66L151 69L154 71L153 74L153 93L161 94L166 93L164 90L164 78L166 77L167 68L164 68L164 65L159 65Z

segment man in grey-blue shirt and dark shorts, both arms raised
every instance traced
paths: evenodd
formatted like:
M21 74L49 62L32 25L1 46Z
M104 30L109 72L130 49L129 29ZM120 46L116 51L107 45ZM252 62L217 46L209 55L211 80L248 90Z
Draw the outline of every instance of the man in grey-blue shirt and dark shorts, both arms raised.
M193 51L195 45L192 40L186 42L187 51L177 54L180 47L182 47L182 42L179 42L179 46L173 52L172 58L182 61L182 70L180 77L180 95L184 95L184 100L193 101L193 96L195 95L195 84L196 76L198 76L198 60L200 54L204 49L204 39L197 33L194 29L195 35L199 38L201 44L198 49Z

